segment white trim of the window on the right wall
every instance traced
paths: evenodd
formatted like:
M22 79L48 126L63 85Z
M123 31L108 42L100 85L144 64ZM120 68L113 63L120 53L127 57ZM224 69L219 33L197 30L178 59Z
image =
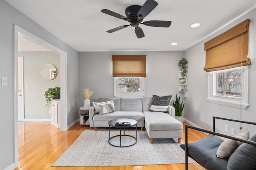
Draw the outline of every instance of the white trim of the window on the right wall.
M227 98L223 96L214 96L214 90L216 92L217 87L217 76L216 73L223 72L223 71L232 71L232 70L238 70L241 68L242 71L242 98ZM220 70L220 71L213 71L208 73L208 98L207 100L214 104L220 104L224 106L230 106L230 107L236 107L241 109L246 109L246 107L249 105L248 100L248 76L249 76L249 69L248 66L242 66L242 67L236 67L236 68L230 68L226 70ZM216 94L216 93L215 93Z

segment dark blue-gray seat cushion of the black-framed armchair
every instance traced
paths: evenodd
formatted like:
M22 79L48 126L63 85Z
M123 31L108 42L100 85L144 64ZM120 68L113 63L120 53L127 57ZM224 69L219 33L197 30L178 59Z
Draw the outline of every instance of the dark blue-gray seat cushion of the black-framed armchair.
M208 170L226 170L228 159L220 159L216 156L222 142L222 139L210 135L199 141L188 143L188 154ZM180 147L185 150L185 144L181 144Z

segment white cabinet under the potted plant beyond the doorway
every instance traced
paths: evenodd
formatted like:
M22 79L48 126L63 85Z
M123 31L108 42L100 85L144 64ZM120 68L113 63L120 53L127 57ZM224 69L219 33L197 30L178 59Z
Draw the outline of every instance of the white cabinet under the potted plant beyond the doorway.
M54 99L51 103L51 123L60 129L60 99Z

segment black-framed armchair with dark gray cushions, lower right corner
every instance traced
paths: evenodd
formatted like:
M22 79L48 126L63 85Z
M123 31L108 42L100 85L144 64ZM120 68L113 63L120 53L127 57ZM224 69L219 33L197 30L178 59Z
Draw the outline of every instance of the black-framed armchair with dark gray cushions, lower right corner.
M226 119L222 117L213 117L213 131L207 131L186 125L185 143L180 145L180 147L185 150L186 170L188 170L188 156L208 170L256 170L256 134L252 135L249 140L244 140L221 133L216 133L215 119L256 125L254 122ZM188 143L188 129L195 129L212 135L199 141ZM217 158L216 152L223 140L215 135L240 141L242 142L242 145L240 145L229 158Z

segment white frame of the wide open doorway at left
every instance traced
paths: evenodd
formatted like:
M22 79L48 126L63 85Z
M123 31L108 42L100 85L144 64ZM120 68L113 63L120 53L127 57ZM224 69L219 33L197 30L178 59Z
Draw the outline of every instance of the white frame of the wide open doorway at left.
M45 48L53 51L60 55L60 88L62 89L60 92L61 95L61 131L66 131L68 129L68 116L67 116L67 56L68 53L62 51L61 49L55 47L54 45L40 39L36 35L26 31L25 29L19 27L18 25L14 24L14 80L13 80L13 107L14 107L14 163L15 167L18 167L18 32L23 33L24 35L34 39L36 42L39 42ZM35 42L35 43L36 43Z

